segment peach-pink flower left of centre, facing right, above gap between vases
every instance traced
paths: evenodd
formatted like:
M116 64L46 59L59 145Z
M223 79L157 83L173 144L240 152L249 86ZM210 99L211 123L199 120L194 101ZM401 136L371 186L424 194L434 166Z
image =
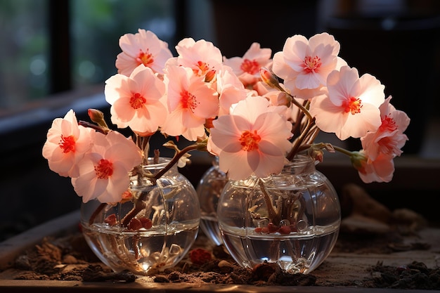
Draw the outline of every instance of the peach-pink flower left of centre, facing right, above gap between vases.
M169 66L164 75L167 84L169 116L161 131L169 136L182 135L188 141L205 136L206 119L219 112L218 93L204 77L198 77L189 67Z

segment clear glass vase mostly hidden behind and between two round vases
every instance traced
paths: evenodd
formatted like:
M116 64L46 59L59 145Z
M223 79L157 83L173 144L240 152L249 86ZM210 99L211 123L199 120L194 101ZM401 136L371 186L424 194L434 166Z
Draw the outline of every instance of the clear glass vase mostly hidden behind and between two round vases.
M228 176L219 169L219 157L214 157L212 167L205 171L196 189L200 202L200 228L214 245L223 244L217 221L217 203L227 182Z

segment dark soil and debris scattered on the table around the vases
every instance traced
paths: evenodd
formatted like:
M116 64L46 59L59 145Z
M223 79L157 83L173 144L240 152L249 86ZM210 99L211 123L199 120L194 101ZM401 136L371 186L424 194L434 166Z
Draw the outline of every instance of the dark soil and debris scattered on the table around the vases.
M356 185L347 185L341 197L344 218L335 248L321 266L308 275L284 273L278 266L262 263L253 270L242 268L224 246L198 236L188 255L174 268L136 276L113 272L91 252L82 234L45 238L15 259L9 275L16 280L77 280L84 282L189 282L239 285L354 286L394 289L440 289L440 268L428 268L413 259L401 266L359 266L333 262L333 254L392 254L430 249L418 237L427 226L422 216L401 209L389 211ZM406 241L410 236L411 241ZM440 252L436 252L439 253ZM0 272L0 278L2 273Z

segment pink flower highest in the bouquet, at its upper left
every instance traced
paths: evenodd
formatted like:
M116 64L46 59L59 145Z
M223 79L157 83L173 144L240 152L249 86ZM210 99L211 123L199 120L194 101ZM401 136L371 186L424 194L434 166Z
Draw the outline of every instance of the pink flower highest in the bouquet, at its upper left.
M115 66L119 74L127 77L141 64L162 74L165 63L173 57L168 44L149 30L139 29L136 34L124 34L119 38L119 47L122 52L117 55Z

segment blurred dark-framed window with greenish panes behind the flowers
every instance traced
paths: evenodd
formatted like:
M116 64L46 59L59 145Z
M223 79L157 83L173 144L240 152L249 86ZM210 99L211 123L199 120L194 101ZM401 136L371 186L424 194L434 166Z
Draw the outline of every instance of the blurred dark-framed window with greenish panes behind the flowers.
M174 44L175 3L1 0L0 117L38 107L51 93L104 82L116 73L122 34L143 28Z

